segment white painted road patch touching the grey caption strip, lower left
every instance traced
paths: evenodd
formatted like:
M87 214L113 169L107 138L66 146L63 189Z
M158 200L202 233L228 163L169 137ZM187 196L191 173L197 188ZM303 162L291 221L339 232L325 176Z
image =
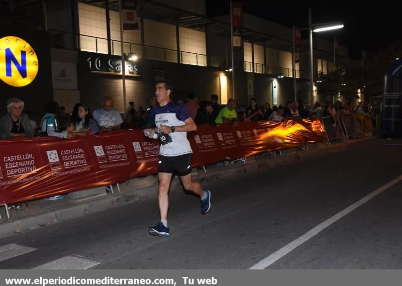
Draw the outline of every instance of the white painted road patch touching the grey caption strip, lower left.
M100 264L98 261L78 256L64 256L32 269L88 269Z

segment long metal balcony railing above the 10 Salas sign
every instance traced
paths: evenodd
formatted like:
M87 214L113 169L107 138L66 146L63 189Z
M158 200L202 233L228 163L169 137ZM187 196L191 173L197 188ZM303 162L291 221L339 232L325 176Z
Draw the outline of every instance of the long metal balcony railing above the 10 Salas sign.
M89 36L89 35L74 35L69 32L49 30L49 37L52 47L64 49L78 49L86 52L95 52L100 54L108 54L108 40L105 38ZM74 47L74 37L77 47ZM121 55L120 40L111 39L112 55ZM177 63L177 50L161 48L155 46L144 45L140 43L123 42L123 51L125 54L135 53L137 56L148 59L165 62ZM219 57L207 56L186 51L180 51L179 62L182 64L198 65L198 66L215 66L224 67L224 60Z

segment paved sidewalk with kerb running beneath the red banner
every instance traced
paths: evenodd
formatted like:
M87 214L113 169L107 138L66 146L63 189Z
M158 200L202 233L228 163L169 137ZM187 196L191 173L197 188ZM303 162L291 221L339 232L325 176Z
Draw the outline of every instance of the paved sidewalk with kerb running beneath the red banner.
M340 152L348 149L352 144L359 144L362 141L375 138L355 139L351 141L334 142L330 146L324 143L311 144L309 150L302 148L282 151L282 156L277 152L277 156L267 154L255 159L255 156L247 157L247 163L237 161L232 165L207 166L207 173L202 168L193 170L194 179L201 184L206 184L219 179L226 179L232 176L258 172L260 170L273 168L279 165L291 164L295 161L309 160L311 158L323 156L325 154ZM140 200L157 198L157 175L141 178L133 178L120 184L120 193L117 188L114 194L103 192L102 194L79 198L75 192L69 195L69 199L58 201L45 201L43 199L30 201L28 206L24 204L22 210L9 211L10 219L7 219L5 208L0 208L0 236L11 235L30 229L43 227L47 224L79 218L86 214L108 210L118 205L133 203ZM105 189L105 187L102 187ZM170 192L182 190L177 176L173 178ZM99 189L98 189L99 192ZM81 191L81 194L84 192ZM85 192L89 194L89 192ZM67 197L67 196L66 196ZM73 199L75 198L75 199Z

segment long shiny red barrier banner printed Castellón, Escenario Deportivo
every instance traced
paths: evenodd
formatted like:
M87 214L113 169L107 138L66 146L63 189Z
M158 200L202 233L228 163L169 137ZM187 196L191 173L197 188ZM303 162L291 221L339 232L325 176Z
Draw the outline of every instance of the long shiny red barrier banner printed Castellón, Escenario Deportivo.
M193 167L326 140L320 120L202 125L187 137ZM142 130L122 130L72 140L2 140L0 145L0 204L9 204L155 174L160 142Z

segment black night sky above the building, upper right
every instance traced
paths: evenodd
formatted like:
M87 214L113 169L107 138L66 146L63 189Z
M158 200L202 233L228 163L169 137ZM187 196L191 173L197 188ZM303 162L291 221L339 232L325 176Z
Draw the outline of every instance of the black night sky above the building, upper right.
M395 0L394 0L395 1ZM386 48L393 42L402 41L402 3L395 1L368 4L368 1L353 3L336 1L244 1L244 12L265 18L287 27L308 26L308 8L312 8L312 22L345 22L345 28L338 31L320 33L320 38L333 41L349 48L354 59L361 58L362 49L375 51ZM207 16L229 14L229 0L206 0ZM303 36L303 34L302 34ZM315 35L317 37L318 35ZM401 55L402 56L402 55Z

